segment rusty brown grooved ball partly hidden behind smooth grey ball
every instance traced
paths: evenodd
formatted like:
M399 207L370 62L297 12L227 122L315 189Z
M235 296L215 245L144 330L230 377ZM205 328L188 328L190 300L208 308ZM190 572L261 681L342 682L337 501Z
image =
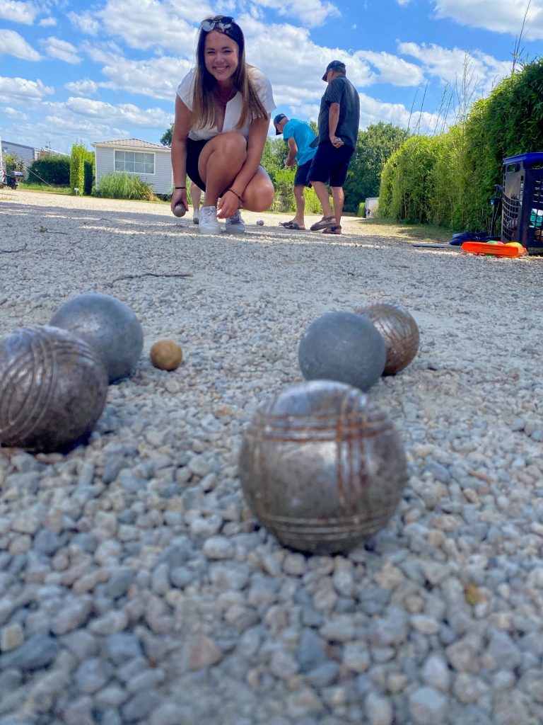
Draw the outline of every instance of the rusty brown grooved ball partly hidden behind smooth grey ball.
M387 362L383 375L395 375L407 367L418 350L420 336L415 318L402 305L377 302L356 312L371 320L384 339Z

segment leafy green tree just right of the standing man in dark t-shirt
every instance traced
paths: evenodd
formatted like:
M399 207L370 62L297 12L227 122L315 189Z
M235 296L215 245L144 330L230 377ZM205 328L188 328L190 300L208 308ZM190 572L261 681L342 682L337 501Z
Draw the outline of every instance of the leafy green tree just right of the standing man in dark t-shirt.
M345 211L355 212L367 196L379 196L384 163L406 138L407 130L382 121L358 132L344 186Z

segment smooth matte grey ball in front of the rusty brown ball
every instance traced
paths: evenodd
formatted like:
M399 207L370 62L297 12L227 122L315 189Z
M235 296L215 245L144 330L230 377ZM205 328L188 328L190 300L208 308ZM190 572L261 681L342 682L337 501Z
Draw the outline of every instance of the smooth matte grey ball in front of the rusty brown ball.
M373 323L355 312L327 312L311 323L298 346L306 380L334 380L361 390L382 375L386 356Z

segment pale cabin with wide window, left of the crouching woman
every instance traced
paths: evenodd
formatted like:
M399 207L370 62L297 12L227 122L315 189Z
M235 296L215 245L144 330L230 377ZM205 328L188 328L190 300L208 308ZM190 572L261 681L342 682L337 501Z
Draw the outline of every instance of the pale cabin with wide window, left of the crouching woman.
M156 194L171 194L173 186L170 150L166 146L122 138L119 141L96 141L96 186L111 171L138 174L151 184Z

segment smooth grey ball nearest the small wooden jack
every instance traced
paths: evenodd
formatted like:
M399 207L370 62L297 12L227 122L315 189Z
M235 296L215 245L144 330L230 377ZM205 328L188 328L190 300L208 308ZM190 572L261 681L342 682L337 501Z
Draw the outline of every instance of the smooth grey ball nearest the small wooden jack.
M134 370L143 349L143 330L133 310L116 297L80 294L59 307L50 325L64 328L96 349L109 382Z

